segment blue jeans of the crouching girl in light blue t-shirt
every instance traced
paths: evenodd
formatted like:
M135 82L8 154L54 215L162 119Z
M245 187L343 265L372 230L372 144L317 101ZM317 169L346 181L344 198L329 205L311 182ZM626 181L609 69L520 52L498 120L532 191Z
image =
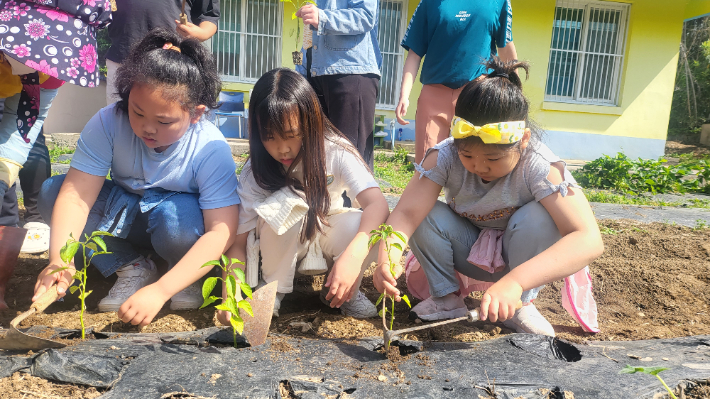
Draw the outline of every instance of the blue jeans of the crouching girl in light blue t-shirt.
M38 208L42 218L51 223L52 209L65 175L54 176L42 184ZM91 234L104 216L106 199L115 183L106 180L89 212L83 234ZM198 194L179 193L166 198L146 213L138 212L126 239L105 237L108 255L98 255L91 263L108 277L121 266L140 256L137 249L152 249L172 268L205 233L205 222ZM78 238L78 237L77 237Z

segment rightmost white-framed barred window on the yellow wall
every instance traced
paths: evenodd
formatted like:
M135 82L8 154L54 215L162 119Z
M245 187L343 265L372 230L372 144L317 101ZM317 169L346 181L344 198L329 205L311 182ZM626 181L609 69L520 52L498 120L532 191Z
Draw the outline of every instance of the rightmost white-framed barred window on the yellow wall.
M629 7L557 0L546 101L618 105Z

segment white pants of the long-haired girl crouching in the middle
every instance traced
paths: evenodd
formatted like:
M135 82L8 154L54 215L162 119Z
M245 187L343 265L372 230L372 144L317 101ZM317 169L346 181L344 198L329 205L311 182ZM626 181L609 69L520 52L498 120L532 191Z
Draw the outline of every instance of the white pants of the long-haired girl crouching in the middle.
M333 267L333 263L338 260L355 238L360 228L361 216L362 211L360 210L328 216L327 220L330 226L324 227L319 244L329 269ZM308 252L309 242L301 243L302 225L303 221L284 234L277 235L264 219L259 218L258 221L261 277L266 283L278 281L277 291L280 293L293 292L296 267ZM374 256L376 255L377 251L371 250L362 265L350 265L350 267L360 267L360 277L355 285L357 289L360 288L362 274L370 266L370 263L375 261Z

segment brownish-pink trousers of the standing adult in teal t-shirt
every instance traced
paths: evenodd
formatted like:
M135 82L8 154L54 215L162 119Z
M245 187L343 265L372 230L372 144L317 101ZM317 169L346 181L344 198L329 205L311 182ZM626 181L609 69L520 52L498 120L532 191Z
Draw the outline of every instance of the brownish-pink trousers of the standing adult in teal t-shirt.
M453 92L444 85L424 85L417 100L414 117L414 160L424 159L426 150L449 137L455 102L451 103Z

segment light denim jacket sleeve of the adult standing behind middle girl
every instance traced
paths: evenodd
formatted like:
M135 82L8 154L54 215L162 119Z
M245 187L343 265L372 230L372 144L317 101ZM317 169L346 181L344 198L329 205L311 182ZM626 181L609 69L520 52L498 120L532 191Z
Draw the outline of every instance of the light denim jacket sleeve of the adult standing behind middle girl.
M318 10L318 35L359 35L377 21L377 0L349 0L346 8Z

